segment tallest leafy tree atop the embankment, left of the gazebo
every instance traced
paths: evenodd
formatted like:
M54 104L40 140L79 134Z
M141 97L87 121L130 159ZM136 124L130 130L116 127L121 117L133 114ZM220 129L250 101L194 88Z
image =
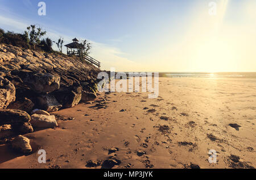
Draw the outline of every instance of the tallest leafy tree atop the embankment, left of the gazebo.
M35 49L36 45L40 44L40 39L44 35L46 35L46 31L42 31L40 27L36 28L36 25L30 25L27 27L27 31L24 31L24 35L26 36L27 45Z

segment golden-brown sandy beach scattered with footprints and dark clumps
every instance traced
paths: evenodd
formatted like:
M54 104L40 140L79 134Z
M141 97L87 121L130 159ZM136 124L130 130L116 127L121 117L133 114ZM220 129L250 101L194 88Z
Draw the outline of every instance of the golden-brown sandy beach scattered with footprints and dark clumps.
M104 168L88 162L110 158L118 162L112 168L255 168L255 89L253 78L162 77L156 99L101 93L53 112L59 127L24 135L30 155L0 145L0 168Z

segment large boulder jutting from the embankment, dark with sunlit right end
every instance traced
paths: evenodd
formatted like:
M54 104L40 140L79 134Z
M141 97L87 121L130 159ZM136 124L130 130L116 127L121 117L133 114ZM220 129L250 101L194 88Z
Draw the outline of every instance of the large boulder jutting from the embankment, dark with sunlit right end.
M36 93L49 93L60 88L60 77L49 73L27 73L22 80Z

